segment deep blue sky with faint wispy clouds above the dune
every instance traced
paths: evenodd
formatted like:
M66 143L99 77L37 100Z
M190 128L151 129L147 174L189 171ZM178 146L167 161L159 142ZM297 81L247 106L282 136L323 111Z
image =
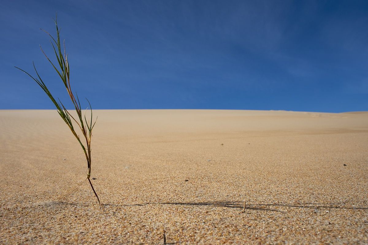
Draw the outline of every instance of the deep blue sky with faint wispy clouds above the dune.
M337 0L3 1L0 109L53 109L32 60L67 101L39 50L56 12L94 109L368 110L368 1Z

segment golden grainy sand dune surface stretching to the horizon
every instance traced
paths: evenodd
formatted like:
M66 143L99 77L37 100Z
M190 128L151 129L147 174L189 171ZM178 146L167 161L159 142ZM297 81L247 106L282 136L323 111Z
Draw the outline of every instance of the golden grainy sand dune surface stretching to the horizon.
M58 201L87 167L55 110L0 111L0 244L368 244L368 112L94 114L101 206Z

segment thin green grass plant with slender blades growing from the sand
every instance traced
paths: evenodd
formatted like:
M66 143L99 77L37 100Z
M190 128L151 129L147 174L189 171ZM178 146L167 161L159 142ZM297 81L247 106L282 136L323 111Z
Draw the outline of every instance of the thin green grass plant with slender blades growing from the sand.
M44 32L47 33L47 35L49 35L51 37L50 39L50 43L53 47L53 50L55 52L56 55L56 59L57 59L57 65L60 66L60 69L58 69L54 63L49 59L49 57L47 57L47 55L45 54L45 52L42 50L42 47L40 46L40 49L42 51L42 53L45 55L45 57L47 58L47 60L51 63L51 65L53 66L53 68L55 69L55 71L57 72L57 74L60 76L61 80L64 83L64 86L66 87L66 90L68 92L68 95L70 97L70 100L74 106L75 111L77 112L77 117L73 117L71 115L71 113L64 107L63 103L59 100L56 101L55 98L52 96L51 92L49 91L49 89L47 88L46 84L42 81L41 77L39 76L35 63L33 62L33 68L35 69L37 78L33 77L32 75L30 75L28 72L22 70L21 68L18 68L15 66L15 68L20 69L22 72L26 73L28 76L30 76L33 80L35 80L35 82L42 88L42 90L47 94L47 96L50 98L50 100L53 102L53 104L55 105L57 112L59 113L59 115L61 116L61 118L64 120L64 122L68 125L70 131L72 132L72 134L74 135L75 138L77 138L79 144L81 145L83 152L85 154L86 160L87 160L87 177L84 181L82 181L82 183L80 183L74 190L72 190L71 192L69 192L67 195L65 195L64 197L68 196L69 194L71 194L73 191L75 191L81 184L83 184L86 180L89 181L89 184L91 185L91 188L93 190L93 193L95 194L98 203L100 204L100 199L98 198L98 195L95 191L95 189L93 188L92 182L89 179L91 177L91 138L92 138L92 129L95 126L96 120L95 122L93 122L92 120L92 108L91 108L91 103L87 100L88 104L89 104L89 108L91 109L91 119L87 121L86 119L86 111L84 112L84 114L82 113L81 110L81 103L79 102L79 98L77 93L75 92L75 96L72 93L71 90L71 86L70 86L70 70L69 70L69 62L68 62L68 55L66 54L66 48L65 48L65 40L63 41L63 48L61 47L61 43L60 43L60 28L57 25L57 15L56 18L54 19L55 25L56 25L56 39L50 35L50 33L46 32L45 30L43 30ZM75 119L77 118L77 120ZM77 128L73 125L73 121L78 125L79 129L82 131L82 135L83 138L81 139L79 137L79 135L77 134L77 132L75 131ZM85 145L82 143L82 140L85 140ZM62 198L64 198L62 197ZM60 198L60 199L62 199ZM60 200L59 199L59 200Z

